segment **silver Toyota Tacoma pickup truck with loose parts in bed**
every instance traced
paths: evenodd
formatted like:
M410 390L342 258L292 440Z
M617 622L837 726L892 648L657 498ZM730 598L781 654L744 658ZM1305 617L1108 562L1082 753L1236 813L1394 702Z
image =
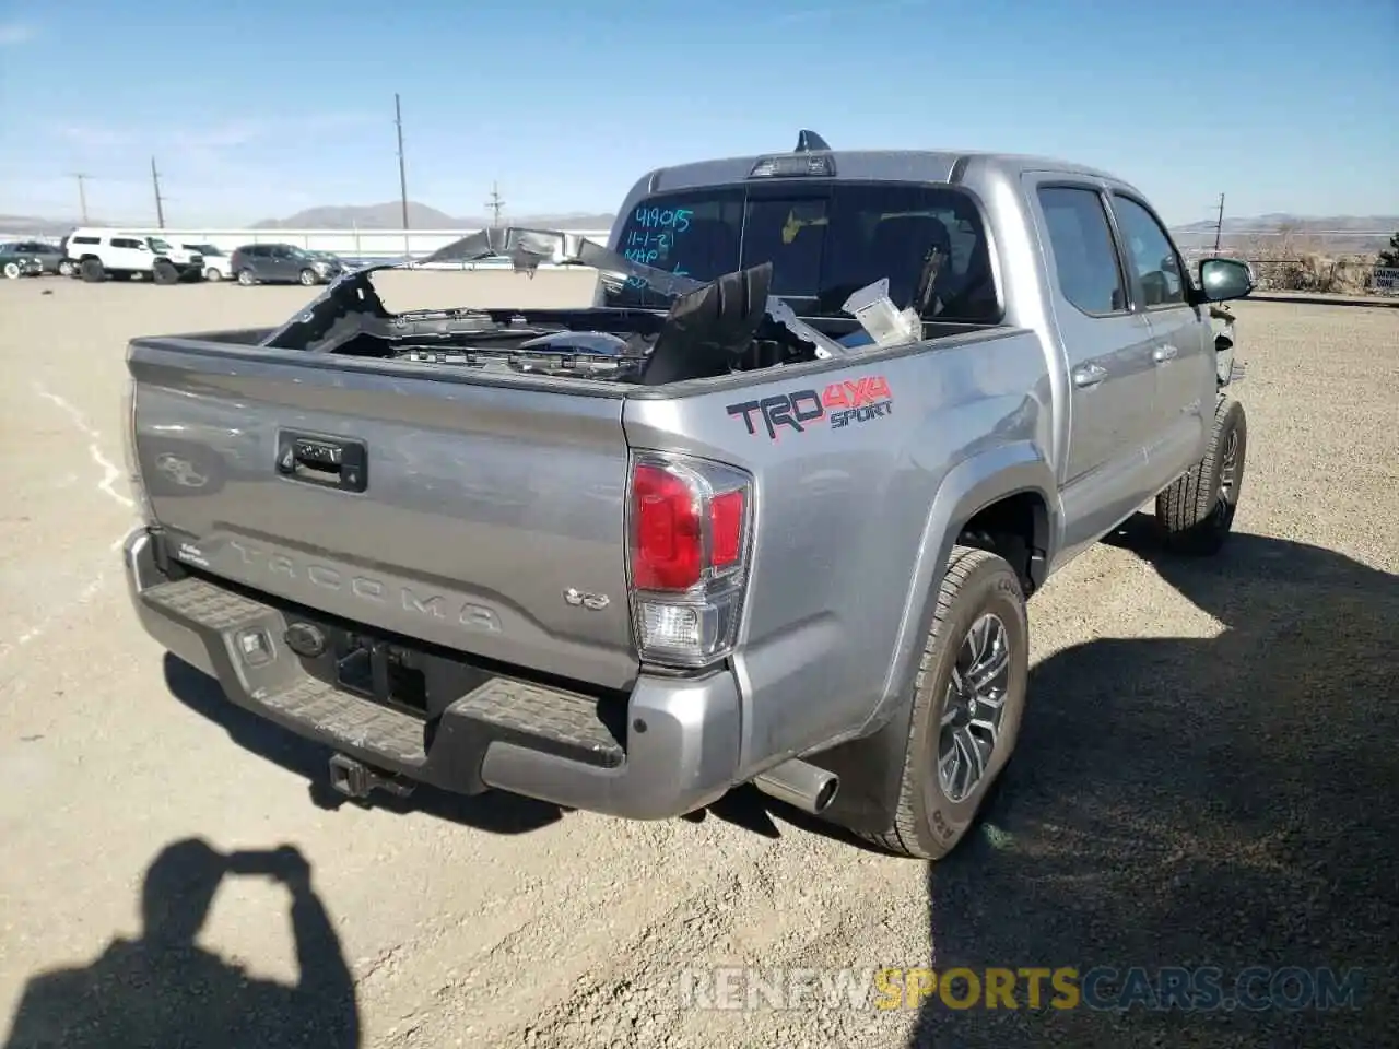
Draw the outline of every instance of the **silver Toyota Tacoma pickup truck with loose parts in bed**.
M343 793L754 783L936 859L1014 747L1027 599L1153 499L1184 552L1230 531L1210 304L1252 273L1105 172L803 133L649 172L606 248L436 255L483 256L597 299L390 313L371 267L127 350L140 621Z

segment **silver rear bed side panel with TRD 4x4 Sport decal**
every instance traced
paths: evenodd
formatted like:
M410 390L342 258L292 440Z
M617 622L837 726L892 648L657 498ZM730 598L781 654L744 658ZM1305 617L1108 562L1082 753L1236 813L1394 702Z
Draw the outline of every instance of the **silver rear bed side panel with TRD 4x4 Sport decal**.
M740 776L863 734L897 709L960 523L1013 490L1039 491L1056 511L1051 386L1034 333L1000 329L754 378L628 399L623 415L634 449L732 463L757 481L733 659ZM837 390L884 407L842 415ZM765 397L795 403L800 429L769 429L751 408Z

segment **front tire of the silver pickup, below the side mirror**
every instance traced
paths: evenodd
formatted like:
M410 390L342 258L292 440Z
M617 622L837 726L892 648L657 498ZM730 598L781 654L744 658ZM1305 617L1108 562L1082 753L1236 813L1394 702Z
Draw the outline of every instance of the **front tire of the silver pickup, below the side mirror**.
M1234 527L1247 452L1248 415L1241 401L1226 394L1214 407L1205 457L1156 497L1167 545L1203 557L1220 551Z

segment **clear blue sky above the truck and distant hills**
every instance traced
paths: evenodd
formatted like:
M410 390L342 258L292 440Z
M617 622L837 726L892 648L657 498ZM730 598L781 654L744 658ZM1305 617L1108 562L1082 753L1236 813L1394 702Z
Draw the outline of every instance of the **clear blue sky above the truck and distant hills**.
M144 8L144 10L143 10ZM611 210L790 148L1042 152L1171 222L1399 213L1399 0L0 0L0 214L239 224L409 196Z

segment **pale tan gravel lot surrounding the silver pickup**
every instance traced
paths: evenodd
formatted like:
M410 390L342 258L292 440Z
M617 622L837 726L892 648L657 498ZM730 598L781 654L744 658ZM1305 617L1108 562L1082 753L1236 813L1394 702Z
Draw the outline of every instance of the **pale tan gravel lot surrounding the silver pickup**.
M588 291L403 277L438 304ZM305 297L0 283L0 1027L28 994L25 1024L69 1025L53 1045L1399 1043L1399 312L1238 306L1238 534L1182 564L1133 526L1034 600L1020 752L929 871L744 792L662 824L336 806L323 751L162 659L113 550L125 341ZM1217 965L1226 990L1330 965L1367 992L1332 1013L683 1007L680 971L726 964Z

